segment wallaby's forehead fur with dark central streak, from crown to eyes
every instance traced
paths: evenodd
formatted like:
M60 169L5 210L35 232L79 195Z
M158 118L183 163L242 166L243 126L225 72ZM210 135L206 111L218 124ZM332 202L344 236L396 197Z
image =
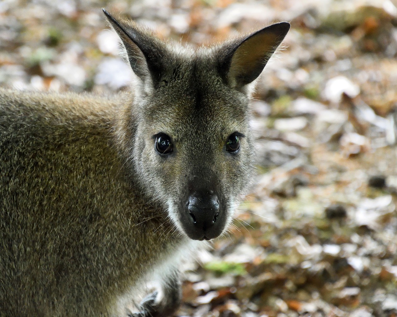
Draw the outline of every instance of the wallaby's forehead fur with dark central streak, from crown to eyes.
M207 129L213 126L223 137L246 128L248 98L227 86L210 51L201 48L190 56L191 50L180 51L168 64L150 103L142 109L155 130L177 136L182 132L176 129L201 122ZM195 128L199 128L197 124Z

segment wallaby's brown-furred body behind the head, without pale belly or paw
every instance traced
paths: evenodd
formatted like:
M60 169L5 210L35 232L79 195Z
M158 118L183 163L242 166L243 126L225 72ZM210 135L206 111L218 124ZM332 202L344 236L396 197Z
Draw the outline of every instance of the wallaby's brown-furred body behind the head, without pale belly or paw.
M0 315L106 315L158 254L164 260L184 239L160 239L170 231L164 210L122 167L119 105L4 94L11 106L0 107Z

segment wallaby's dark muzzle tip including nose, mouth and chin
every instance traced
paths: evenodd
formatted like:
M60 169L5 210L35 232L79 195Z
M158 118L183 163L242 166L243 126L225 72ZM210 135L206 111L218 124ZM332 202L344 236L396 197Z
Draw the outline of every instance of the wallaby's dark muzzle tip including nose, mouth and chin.
M179 218L183 231L193 240L211 240L225 228L225 212L213 191L194 191Z

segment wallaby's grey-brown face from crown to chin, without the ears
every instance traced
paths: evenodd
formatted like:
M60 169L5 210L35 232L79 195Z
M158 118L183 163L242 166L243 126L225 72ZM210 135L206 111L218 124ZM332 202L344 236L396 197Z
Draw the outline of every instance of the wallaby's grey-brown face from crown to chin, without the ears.
M222 84L215 67L202 57L175 65L181 78L165 79L141 109L133 147L147 187L197 240L218 237L231 221L252 165L247 97Z

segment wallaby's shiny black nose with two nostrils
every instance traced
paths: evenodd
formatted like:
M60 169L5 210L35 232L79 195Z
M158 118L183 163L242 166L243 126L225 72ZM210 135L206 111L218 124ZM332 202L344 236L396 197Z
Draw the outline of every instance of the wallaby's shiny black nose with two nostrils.
M202 239L217 236L217 220L219 216L218 197L212 191L196 191L187 200L187 212L195 233Z

